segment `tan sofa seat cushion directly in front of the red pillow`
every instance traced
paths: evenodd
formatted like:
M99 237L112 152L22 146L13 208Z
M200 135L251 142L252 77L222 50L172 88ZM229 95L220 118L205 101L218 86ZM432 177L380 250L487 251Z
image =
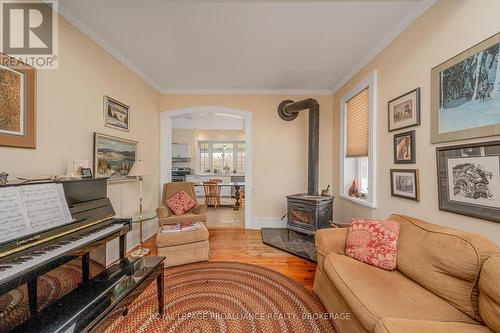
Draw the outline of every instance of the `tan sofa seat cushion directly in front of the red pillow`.
M385 317L476 323L398 270L386 271L329 254L325 273L363 327L373 332Z

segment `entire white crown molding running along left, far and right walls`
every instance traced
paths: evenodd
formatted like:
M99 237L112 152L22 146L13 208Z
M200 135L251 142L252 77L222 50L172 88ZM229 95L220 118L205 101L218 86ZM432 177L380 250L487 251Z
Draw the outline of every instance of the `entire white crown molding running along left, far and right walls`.
M46 0L42 0L45 2ZM382 41L377 44L368 54L353 67L346 75L344 75L332 89L163 89L153 79L140 70L128 58L109 45L109 42L99 37L92 29L87 27L83 22L76 17L66 12L61 6L58 8L58 14L71 23L80 32L101 46L112 57L121 62L124 66L130 69L143 81L148 83L156 91L162 94L178 94L178 95L291 95L291 96L327 96L335 94L341 89L349 80L351 80L363 67L365 67L375 56L384 50L397 36L399 36L410 24L412 24L420 15L429 9L437 0L423 0L414 11L412 11L396 29L388 33Z

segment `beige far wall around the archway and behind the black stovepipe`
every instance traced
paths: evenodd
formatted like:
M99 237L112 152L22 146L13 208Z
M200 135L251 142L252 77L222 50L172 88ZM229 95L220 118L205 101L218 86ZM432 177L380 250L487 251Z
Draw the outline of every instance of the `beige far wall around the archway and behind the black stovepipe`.
M252 112L254 217L281 218L285 195L307 191L307 112L283 121L277 107L285 99L313 97L320 103L320 188L332 183L332 96L163 95L162 111L223 106Z

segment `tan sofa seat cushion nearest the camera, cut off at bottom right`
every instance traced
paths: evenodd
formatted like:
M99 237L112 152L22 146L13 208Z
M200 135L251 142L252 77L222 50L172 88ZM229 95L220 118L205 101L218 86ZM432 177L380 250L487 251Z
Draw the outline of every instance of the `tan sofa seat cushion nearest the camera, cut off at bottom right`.
M384 318L378 322L374 333L493 333L478 324Z

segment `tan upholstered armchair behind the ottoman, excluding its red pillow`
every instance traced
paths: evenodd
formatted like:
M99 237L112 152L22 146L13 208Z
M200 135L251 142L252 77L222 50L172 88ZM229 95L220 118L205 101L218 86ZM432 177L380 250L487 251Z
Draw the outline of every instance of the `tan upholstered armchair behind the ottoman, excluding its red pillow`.
M207 221L207 215L205 214L207 211L207 206L205 204L196 203L196 205L193 208L191 208L182 215L175 215L170 210L170 208L168 208L166 201L174 194L179 193L181 191L186 192L195 202L197 202L193 183L174 182L163 185L163 195L161 200L162 203L161 206L156 209L156 214L158 215L158 224L160 226L164 224L172 224L186 220L195 220L201 222Z

